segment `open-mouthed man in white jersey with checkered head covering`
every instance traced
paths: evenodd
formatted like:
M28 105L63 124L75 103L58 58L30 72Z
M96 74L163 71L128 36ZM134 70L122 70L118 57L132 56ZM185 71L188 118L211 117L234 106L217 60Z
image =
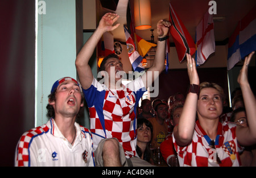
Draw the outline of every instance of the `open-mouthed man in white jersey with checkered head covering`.
M48 98L51 119L21 136L15 166L94 166L92 135L75 122L84 106L80 84L71 77L61 78Z

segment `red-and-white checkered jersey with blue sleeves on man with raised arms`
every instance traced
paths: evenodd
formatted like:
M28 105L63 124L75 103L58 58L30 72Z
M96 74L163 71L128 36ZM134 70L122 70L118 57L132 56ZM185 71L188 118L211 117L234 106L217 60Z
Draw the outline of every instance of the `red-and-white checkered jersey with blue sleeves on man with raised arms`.
M138 156L136 108L145 91L141 77L118 90L109 90L94 78L90 88L83 89L89 107L94 150L101 139L117 138L127 158Z

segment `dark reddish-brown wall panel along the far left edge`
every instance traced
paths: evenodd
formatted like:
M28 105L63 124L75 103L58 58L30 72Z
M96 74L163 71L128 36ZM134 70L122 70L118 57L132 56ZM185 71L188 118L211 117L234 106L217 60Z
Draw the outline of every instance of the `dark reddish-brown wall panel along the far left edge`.
M20 136L35 127L35 1L0 1L0 166L13 166Z

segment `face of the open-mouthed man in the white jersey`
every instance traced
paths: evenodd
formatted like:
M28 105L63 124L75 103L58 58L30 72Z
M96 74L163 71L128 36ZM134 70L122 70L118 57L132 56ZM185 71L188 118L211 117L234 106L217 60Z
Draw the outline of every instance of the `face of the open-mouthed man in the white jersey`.
M64 115L65 117L74 117L79 113L81 104L80 87L76 82L67 80L62 82L56 89L55 101L49 101L49 104L55 109L55 117Z

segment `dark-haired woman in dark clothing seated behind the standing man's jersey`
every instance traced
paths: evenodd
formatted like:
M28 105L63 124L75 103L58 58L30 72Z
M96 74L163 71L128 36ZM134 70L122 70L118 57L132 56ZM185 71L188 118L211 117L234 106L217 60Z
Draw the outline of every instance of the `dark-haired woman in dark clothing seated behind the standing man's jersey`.
M146 160L147 162L154 164L152 159L152 152L150 150L150 141L153 131L153 126L147 119L137 120L137 147L136 151L139 158Z

